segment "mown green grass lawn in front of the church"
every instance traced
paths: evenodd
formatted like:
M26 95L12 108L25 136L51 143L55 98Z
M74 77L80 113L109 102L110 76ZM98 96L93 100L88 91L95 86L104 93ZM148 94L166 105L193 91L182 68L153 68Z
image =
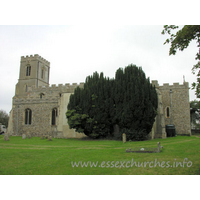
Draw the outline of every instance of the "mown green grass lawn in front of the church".
M157 147L157 142L164 147L160 153L125 152L134 147ZM10 141L4 141L0 136L1 175L197 175L200 174L199 158L199 136L125 144L114 140L53 138L48 141L38 137L23 140L17 136L10 136ZM74 162L77 166L73 167ZM88 166L81 166L83 162ZM93 162L96 167L90 166Z

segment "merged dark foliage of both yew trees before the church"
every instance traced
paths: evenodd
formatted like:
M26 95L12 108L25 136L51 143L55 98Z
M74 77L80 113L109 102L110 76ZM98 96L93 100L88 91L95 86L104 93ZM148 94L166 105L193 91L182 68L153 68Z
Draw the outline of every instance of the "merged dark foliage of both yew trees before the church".
M130 65L118 69L114 79L97 72L88 76L84 88L77 87L70 96L66 116L70 128L92 138L112 136L114 125L146 136L156 110L155 87L142 68Z

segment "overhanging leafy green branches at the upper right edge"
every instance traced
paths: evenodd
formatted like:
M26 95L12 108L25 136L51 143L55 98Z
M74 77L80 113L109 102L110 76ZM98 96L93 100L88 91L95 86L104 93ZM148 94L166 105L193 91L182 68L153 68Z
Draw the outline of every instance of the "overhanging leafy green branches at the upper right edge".
M192 73L197 75L197 81L192 83L192 89L195 89L197 98L200 98L200 25L185 25L182 29L174 33L178 29L175 25L165 25L162 34L169 34L170 38L166 39L164 44L171 44L169 55L175 55L177 50L186 49L192 40L196 40L199 51L195 59L197 64L192 67Z

